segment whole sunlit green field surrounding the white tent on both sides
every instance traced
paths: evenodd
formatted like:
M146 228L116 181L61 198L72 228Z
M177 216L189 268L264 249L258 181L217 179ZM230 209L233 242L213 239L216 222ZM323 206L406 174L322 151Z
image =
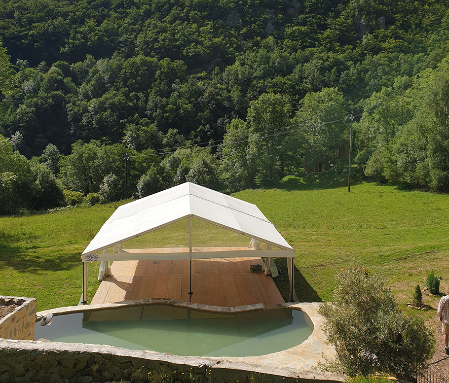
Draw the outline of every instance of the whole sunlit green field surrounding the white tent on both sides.
M374 183L354 185L348 193L346 187L319 189L289 178L279 189L246 190L235 197L256 204L295 249L295 288L302 301L331 299L335 273L356 263L385 274L403 307L412 288L425 285L431 269L444 278L442 291L448 284L448 195ZM76 305L80 254L119 205L0 218L0 294L35 297L38 310ZM247 241L199 221L196 230L208 233L197 245L209 244L211 238L217 245ZM186 240L180 222L135 240L135 245L184 245ZM277 264L283 273L275 280L282 291L287 272L282 260ZM90 298L99 284L96 267L90 270ZM438 297L424 299L434 308L438 304Z

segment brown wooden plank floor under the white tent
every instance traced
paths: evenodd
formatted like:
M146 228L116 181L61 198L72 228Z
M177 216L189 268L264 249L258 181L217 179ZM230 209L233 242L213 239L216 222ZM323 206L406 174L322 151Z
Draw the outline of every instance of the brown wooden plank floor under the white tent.
M193 303L242 306L285 303L271 276L251 273L261 258L215 258L192 261ZM143 298L189 300L188 260L114 261L112 276L100 284L91 304Z

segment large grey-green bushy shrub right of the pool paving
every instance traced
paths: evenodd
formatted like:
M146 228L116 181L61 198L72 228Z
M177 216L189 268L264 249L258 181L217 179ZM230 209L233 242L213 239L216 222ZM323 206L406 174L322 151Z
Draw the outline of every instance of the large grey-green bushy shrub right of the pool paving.
M385 372L411 379L432 355L433 333L398 309L380 274L354 266L336 279L334 302L320 308L323 330L337 350L328 364L351 377Z

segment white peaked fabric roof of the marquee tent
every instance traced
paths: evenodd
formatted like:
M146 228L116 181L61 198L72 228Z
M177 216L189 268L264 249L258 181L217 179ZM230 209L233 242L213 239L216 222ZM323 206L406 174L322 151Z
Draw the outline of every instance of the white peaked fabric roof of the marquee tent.
M117 208L82 254L98 252L189 216L293 250L256 205L186 182Z

